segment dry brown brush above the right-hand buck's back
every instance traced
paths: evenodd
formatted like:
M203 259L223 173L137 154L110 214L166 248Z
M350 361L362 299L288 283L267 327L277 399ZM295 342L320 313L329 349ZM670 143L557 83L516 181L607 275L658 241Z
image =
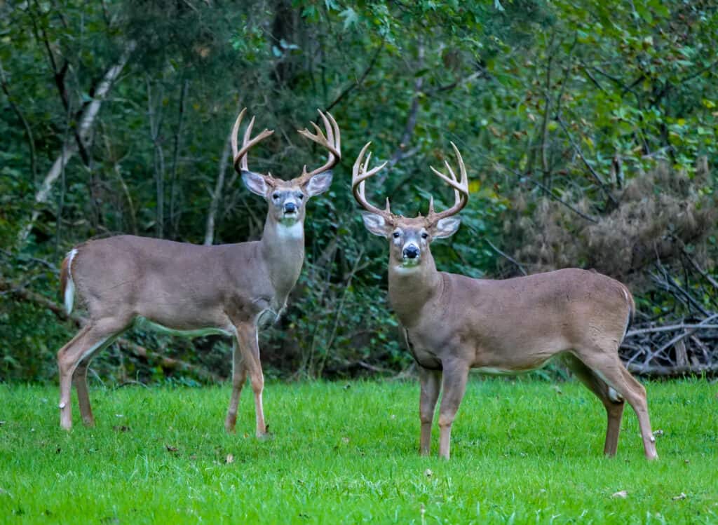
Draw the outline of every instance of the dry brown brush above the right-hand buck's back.
M561 196L595 222L546 197L528 208L517 194L504 223L506 239L515 240L509 251L532 272L583 266L641 288L647 266L678 264L686 246L697 264L712 266L704 240L718 230L718 195L704 191L709 175L705 159L692 179L660 165L615 190L617 205L601 215L584 196Z

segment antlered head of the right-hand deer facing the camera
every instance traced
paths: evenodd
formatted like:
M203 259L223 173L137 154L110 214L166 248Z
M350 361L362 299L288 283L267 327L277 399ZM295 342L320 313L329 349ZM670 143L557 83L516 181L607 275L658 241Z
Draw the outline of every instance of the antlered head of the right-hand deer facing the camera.
M374 235L388 238L390 249L391 269L399 271L411 271L419 267L424 261L431 260L429 244L437 238L452 236L461 223L461 219L454 217L464 208L469 200L469 182L464 161L459 149L452 142L454 153L459 162L461 180L457 180L454 170L449 163L444 164L449 171L449 176L430 167L432 172L454 188L454 205L442 212L434 210L434 198L429 201L429 214L426 217L408 218L391 213L389 200L386 199L386 207L381 210L371 205L365 195L365 181L376 175L386 166L386 162L378 167L369 169L371 153L364 160L364 154L369 147L368 142L356 159L352 169L352 192L357 202L366 210L362 212L364 226Z

